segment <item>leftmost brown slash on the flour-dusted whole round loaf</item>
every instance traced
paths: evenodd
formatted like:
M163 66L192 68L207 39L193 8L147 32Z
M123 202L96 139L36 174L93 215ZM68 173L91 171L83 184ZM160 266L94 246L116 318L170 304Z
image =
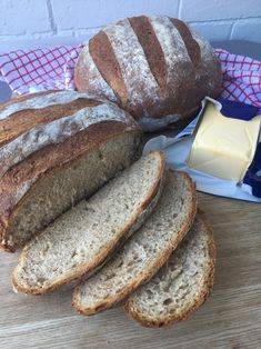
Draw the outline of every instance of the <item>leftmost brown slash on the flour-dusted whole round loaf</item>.
M114 91L119 104L126 108L128 102L128 91L116 53L104 31L101 30L90 40L89 49L97 69Z

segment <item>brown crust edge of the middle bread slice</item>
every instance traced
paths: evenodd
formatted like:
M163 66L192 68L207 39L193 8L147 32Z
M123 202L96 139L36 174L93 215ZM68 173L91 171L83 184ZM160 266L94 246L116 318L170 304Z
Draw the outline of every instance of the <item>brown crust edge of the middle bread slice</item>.
M168 176L172 176L173 171L168 170ZM187 232L189 231L191 225L193 223L194 216L197 212L197 195L195 195L195 187L192 182L191 178L185 172L179 172L181 176L188 181L188 186L190 187L191 192L191 209L188 215L188 219L183 222L178 238L170 241L168 250L163 250L161 253L160 259L154 261L152 263L150 270L144 270L143 275L141 275L138 279L133 279L132 283L128 287L128 289L123 289L121 292L117 293L117 297L111 297L110 299L107 299L99 306L94 306L93 308L82 309L76 300L76 295L79 290L79 287L77 287L73 291L73 300L72 306L73 308L81 315L94 315L98 311L107 310L116 306L119 301L126 299L128 296L130 296L139 286L142 283L149 281L157 271L165 263L165 261L170 258L172 252L178 248L182 239L185 237ZM157 209L157 208L155 208Z

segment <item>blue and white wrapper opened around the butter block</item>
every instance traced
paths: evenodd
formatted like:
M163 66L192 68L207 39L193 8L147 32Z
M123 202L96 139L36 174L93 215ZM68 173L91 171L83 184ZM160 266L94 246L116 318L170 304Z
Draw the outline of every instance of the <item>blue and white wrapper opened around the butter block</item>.
M261 202L261 142L258 143L253 161L250 164L243 180L239 183L197 171L188 166L187 159L190 154L194 140L193 132L208 101L215 103L222 112L224 110L224 114L230 112L233 114L234 109L239 108L238 102L229 101L229 103L227 103L223 101L222 103L222 101L215 101L207 97L202 101L202 109L200 113L189 126L187 126L173 138L159 136L150 139L144 146L143 153L149 153L152 150L163 151L167 157L168 167L188 172L195 182L199 191L233 199ZM244 119L245 122L248 122L247 107L243 108L243 112L238 113L238 118ZM250 106L250 108L252 106ZM250 110L250 113L251 112L253 112L253 109Z

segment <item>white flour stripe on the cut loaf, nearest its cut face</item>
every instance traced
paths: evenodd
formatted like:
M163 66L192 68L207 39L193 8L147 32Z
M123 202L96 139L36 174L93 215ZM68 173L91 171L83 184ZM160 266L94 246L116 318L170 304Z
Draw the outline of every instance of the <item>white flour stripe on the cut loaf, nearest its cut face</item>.
M33 152L63 142L91 124L108 120L132 123L131 118L123 110L112 103L102 103L97 107L86 107L71 116L34 127L0 148L0 178L12 166Z

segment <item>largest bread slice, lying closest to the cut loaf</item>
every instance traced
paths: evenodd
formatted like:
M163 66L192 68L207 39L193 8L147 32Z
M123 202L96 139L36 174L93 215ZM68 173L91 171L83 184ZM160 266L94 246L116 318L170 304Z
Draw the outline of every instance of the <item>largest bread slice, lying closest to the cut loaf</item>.
M23 249L14 288L41 295L98 268L151 213L164 167L163 154L152 152L58 218Z

